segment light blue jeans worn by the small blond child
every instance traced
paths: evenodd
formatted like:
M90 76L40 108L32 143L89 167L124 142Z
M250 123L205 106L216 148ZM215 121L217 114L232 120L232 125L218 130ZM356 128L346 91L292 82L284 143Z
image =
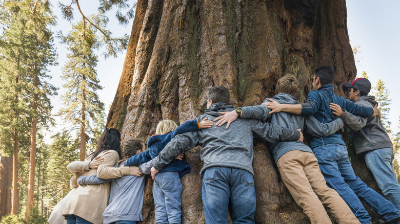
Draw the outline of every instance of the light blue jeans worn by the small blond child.
M178 172L155 174L153 197L155 222L181 223L182 184Z

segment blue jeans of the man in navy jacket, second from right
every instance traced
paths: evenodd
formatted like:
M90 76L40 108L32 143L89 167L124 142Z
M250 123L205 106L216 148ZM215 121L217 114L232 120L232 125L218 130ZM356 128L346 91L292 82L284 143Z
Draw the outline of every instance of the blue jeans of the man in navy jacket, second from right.
M388 200L369 188L354 174L346 146L328 144L312 150L328 186L341 195L361 223L371 223L371 217L359 199L371 207L384 221L399 217Z

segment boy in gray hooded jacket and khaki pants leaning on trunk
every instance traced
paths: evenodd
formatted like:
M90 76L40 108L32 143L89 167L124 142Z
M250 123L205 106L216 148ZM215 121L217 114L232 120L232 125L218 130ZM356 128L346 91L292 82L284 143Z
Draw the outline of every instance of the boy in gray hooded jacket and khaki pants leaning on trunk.
M276 83L274 100L279 103L296 104L292 97L297 92L298 82L293 75L286 74ZM268 100L265 99L265 102ZM313 116L301 116L286 112L269 114L271 111L264 105L247 106L242 109L240 118L269 121L290 129L302 128L315 137L326 137L343 127L343 121L336 119L330 123L320 123ZM237 117L236 113L224 113L228 118ZM224 119L221 118L221 125ZM217 118L218 119L218 118ZM215 120L214 120L215 121ZM281 173L282 181L290 191L297 205L310 218L311 223L331 223L324 208L330 210L338 223L359 223L345 201L339 194L326 185L324 176L319 170L317 159L310 147L299 141L277 141L268 144L274 160Z

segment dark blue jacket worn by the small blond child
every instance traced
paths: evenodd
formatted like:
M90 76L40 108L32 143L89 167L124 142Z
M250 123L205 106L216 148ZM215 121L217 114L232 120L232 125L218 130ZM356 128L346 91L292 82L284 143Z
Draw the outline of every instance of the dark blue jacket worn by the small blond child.
M148 150L129 158L126 161L126 166L138 166L139 164L149 162L150 160L155 158L159 154L159 152L161 152L164 147L171 141L171 139L175 138L176 135L191 131L197 131L198 129L198 120L196 118L183 123L181 126L178 126L174 131L168 132L164 135L155 135L150 137L149 141L147 141ZM169 171L177 171L179 173L179 178L182 178L185 174L189 173L190 165L186 159L186 155L184 155L182 161L175 159L159 172Z

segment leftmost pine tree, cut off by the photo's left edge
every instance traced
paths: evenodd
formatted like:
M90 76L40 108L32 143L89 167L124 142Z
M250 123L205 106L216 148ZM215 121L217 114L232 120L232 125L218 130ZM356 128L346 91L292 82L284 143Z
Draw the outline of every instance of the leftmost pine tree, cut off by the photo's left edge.
M25 32L25 19L10 2L3 8L13 13L2 17L4 32L0 40L0 145L2 155L13 155L12 214L17 213L17 179L19 141L27 137L30 129L30 101L27 76L29 64L29 35ZM10 141L12 140L12 141ZM3 215L3 214L2 214Z

